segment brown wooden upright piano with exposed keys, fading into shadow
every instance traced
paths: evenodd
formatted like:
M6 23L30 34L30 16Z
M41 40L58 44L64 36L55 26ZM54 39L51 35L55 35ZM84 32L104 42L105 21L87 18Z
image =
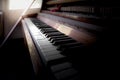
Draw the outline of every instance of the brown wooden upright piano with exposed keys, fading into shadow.
M96 44L101 44L99 41L107 30L105 26L110 14L106 15L110 8L102 7L102 15L98 14L92 1L45 0L37 15L22 19L25 41L37 76L41 69L45 70L47 80L99 76L101 51L97 51Z

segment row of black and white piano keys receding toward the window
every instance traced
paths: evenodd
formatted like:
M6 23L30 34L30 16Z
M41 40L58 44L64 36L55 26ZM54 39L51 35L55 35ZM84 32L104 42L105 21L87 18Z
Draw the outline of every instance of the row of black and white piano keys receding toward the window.
M85 46L37 18L24 20L43 63L49 66L55 80L80 80L79 69L77 70L72 63L74 60L68 56L79 54Z

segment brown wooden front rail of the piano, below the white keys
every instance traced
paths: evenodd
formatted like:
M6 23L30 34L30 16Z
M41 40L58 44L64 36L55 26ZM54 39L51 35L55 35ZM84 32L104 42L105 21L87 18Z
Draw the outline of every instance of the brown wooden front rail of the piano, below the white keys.
M31 35L28 31L28 28L24 22L24 20L22 20L22 25L23 25L23 32L24 32L24 36L27 42L27 46L28 46L28 50L30 53L30 57L31 57L31 61L33 64L33 69L36 75L39 74L39 71L41 69L41 64L40 64L40 57L38 55L38 52L35 48L34 42L31 38Z

